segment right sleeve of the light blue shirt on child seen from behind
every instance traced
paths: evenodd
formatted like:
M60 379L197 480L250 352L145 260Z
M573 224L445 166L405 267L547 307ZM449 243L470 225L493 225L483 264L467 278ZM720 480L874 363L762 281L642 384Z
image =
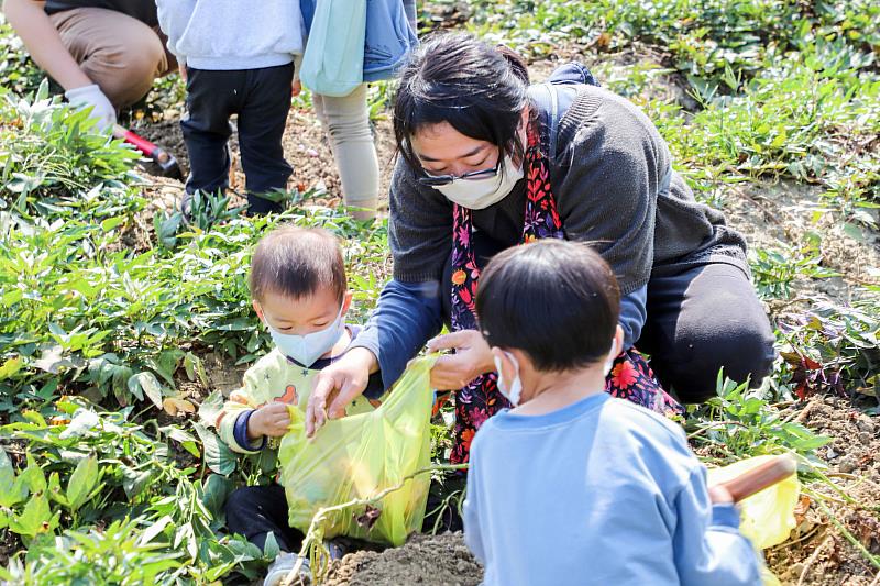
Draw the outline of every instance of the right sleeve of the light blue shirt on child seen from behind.
M675 567L682 586L758 586L758 554L739 533L734 505L712 505L706 469L698 466L675 498Z

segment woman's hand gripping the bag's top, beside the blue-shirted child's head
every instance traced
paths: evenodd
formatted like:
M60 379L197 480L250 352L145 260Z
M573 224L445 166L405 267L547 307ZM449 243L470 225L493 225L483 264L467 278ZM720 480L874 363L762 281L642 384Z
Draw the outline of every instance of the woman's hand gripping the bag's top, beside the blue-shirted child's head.
M454 354L440 356L431 368L431 387L437 390L454 390L471 380L495 371L492 351L483 335L476 330L461 330L438 335L428 341L428 350L454 350Z

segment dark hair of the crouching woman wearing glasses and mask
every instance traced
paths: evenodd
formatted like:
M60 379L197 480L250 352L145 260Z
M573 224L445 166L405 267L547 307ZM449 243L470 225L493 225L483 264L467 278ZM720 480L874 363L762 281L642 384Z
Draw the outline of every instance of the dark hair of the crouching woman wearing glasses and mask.
M522 109L528 104L528 70L516 53L493 47L469 34L428 37L400 75L394 102L397 150L410 168L421 164L409 139L425 126L449 122L453 129L521 158ZM504 167L502 166L502 169Z

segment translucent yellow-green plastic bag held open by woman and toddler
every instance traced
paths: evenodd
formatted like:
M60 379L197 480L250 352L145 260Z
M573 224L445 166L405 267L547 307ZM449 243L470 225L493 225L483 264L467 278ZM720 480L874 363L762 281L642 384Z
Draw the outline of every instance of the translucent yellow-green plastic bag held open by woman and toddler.
M414 361L375 411L330 420L312 440L305 433L308 397L290 406L290 430L278 450L290 527L306 532L319 509L374 498L430 465L430 369L437 357ZM372 527L356 520L364 507L332 512L323 535L400 545L421 528L429 484L430 475L420 474L385 496Z

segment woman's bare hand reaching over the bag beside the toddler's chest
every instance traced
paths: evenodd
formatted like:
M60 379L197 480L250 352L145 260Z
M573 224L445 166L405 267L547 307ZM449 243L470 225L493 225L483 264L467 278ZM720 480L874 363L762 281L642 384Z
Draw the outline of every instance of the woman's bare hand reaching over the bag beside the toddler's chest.
M315 435L328 419L345 417L345 407L363 394L370 374L377 369L376 356L365 347L355 347L318 373L306 407L306 435Z

